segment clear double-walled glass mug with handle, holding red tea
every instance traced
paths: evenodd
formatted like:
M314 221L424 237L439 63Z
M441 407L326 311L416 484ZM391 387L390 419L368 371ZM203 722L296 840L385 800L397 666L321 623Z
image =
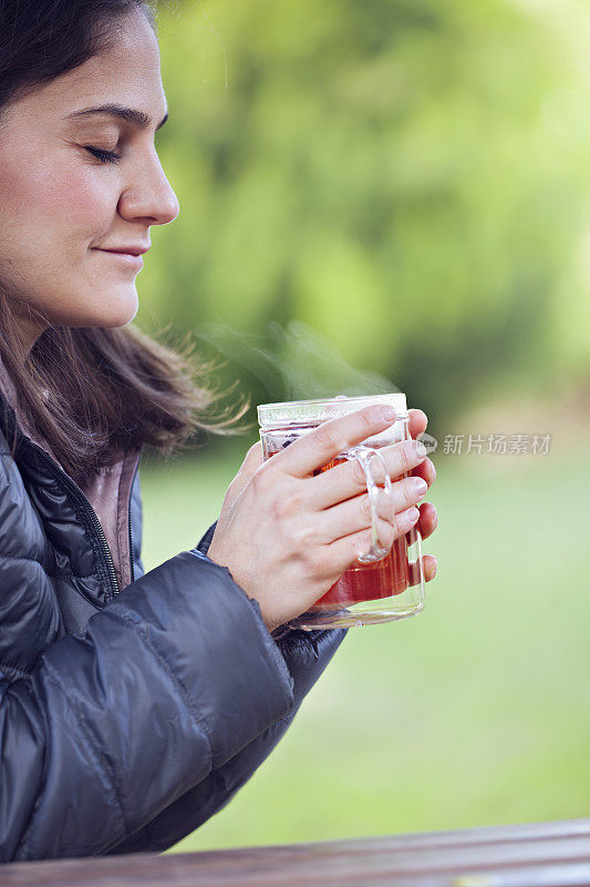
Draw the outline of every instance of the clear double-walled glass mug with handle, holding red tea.
M391 480L379 450L410 438L410 416L404 394L262 404L258 407L258 421L263 458L270 459L321 422L346 416L372 404L394 407L397 414L395 422L360 446L340 453L314 472L327 471L350 459L360 462L371 504L371 547L307 613L291 620L290 628L312 631L376 625L413 616L424 609L418 530L414 528L396 539L391 549L380 544L377 534L377 497L389 498L392 504ZM391 513L393 517L393 506Z

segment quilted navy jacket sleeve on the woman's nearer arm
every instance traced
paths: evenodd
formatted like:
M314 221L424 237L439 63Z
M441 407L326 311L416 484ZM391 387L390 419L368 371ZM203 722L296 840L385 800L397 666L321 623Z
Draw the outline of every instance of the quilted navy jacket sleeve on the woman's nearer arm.
M0 858L121 844L288 718L293 687L258 604L177 554L0 680Z

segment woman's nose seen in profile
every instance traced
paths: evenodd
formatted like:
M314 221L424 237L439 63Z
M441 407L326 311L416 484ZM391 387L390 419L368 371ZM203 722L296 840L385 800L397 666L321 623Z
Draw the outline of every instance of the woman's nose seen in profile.
M118 198L118 212L127 221L168 225L179 213L178 198L155 150L149 164L143 163Z

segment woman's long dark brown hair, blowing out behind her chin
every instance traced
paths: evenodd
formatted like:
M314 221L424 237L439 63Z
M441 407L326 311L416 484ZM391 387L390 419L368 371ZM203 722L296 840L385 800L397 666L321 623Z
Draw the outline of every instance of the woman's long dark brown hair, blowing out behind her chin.
M155 27L149 0L0 0L0 126L4 108L95 55L136 9ZM124 448L147 443L169 455L210 427L203 416L214 397L195 381L205 367L194 344L166 347L133 325L50 325L23 363L21 324L33 314L0 285L6 368L29 426L80 485Z

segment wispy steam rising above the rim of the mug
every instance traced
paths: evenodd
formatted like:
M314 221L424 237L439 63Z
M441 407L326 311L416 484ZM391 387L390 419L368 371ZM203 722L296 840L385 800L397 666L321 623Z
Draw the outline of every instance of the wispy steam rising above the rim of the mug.
M196 335L259 379L271 401L398 390L384 376L351 367L332 343L299 320L287 327L271 323L266 336L222 324L204 325Z

